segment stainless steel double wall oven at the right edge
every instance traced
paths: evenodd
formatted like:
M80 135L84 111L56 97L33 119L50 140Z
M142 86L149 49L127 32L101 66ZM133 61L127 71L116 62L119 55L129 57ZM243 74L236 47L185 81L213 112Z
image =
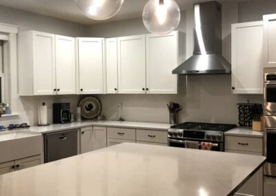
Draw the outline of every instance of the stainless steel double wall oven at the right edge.
M276 177L276 68L264 69L264 174Z

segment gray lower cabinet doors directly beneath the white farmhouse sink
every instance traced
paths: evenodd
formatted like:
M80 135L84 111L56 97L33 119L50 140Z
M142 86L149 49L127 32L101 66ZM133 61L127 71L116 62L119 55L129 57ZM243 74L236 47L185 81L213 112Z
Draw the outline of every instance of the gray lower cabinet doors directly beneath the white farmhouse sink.
M32 166L38 166L42 163L43 161L41 155L4 162L0 164L0 175L10 173L15 170L21 170L24 168L30 168Z

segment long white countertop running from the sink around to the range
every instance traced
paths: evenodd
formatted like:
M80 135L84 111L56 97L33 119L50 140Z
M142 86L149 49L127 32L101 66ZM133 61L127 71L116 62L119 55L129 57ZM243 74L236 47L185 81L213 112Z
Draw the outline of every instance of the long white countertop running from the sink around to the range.
M61 130L74 128L82 128L86 126L107 126L107 127L123 127L123 128L140 128L152 130L165 130L170 128L170 124L151 123L151 122L135 122L135 121L79 121L70 124L51 124L50 126L31 126L29 131L32 133L53 133Z

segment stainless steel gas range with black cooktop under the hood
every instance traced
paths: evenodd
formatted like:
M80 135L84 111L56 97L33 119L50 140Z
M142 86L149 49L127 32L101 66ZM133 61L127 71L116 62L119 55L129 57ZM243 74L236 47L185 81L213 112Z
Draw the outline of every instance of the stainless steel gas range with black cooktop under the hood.
M185 122L168 129L168 146L186 148L188 142L211 144L215 151L224 151L224 132L237 127L235 124L210 124Z

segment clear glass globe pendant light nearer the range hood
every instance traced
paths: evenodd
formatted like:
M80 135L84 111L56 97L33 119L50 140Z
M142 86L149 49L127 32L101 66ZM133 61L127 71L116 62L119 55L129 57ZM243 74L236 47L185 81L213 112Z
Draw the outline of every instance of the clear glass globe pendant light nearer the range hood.
M150 32L166 35L179 25L179 6L174 0L150 0L144 7L143 21Z

